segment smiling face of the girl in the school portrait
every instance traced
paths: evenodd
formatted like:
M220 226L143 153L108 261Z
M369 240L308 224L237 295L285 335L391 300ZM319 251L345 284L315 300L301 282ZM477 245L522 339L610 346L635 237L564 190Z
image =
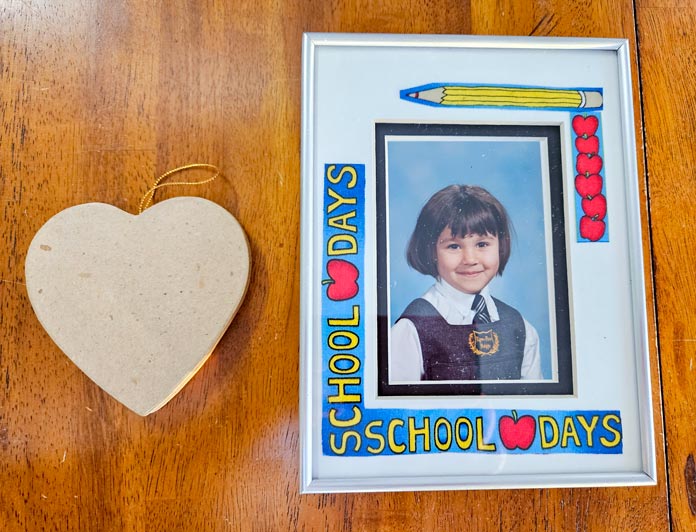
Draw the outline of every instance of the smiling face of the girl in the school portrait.
M453 236L448 226L440 233L435 249L440 278L467 294L478 294L498 273L497 236Z

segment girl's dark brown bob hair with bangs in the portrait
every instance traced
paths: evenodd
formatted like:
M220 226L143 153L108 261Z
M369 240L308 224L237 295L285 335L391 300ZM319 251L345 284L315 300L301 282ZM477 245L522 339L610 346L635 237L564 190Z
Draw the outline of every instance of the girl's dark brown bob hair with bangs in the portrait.
M472 185L450 185L433 194L416 222L406 251L409 266L437 278L437 239L445 227L452 236L493 235L498 237L498 275L510 258L510 220L505 207L486 189Z

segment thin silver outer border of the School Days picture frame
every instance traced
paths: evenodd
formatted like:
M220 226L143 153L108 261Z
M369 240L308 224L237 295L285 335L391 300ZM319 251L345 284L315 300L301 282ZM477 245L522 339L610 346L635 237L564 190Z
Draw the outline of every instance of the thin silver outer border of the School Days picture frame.
M318 479L313 476L312 416L314 382L312 380L311 339L315 334L313 294L305 288L316 277L313 263L314 242L312 211L315 186L313 156L315 142L314 81L315 48L318 46L492 48L544 50L602 50L615 52L619 64L621 132L626 165L625 192L628 226L629 269L638 282L632 283L633 330L636 342L636 379L639 391L639 421L643 471L635 473L592 473L587 475L496 475L453 477L400 477L380 479ZM634 131L633 87L630 49L625 39L586 39L556 37L483 37L455 35L391 35L306 33L302 41L302 150L301 150L301 224L300 224L300 489L302 493L362 491L411 491L443 489L514 489L591 486L636 486L657 483L652 386L646 288L643 269L640 190Z

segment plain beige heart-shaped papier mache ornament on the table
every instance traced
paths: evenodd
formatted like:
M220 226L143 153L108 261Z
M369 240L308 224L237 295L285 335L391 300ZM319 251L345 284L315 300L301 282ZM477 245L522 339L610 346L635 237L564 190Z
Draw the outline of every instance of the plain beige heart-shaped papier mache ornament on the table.
M203 365L246 292L246 235L194 197L140 215L87 203L59 212L27 253L29 299L60 349L145 416Z

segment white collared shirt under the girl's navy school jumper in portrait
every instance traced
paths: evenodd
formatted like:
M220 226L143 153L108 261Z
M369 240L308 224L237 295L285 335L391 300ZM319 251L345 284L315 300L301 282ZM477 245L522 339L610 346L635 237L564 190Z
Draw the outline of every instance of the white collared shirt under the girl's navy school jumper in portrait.
M481 290L491 321L498 321L498 308L488 286ZM430 303L450 325L471 325L476 312L471 309L475 294L467 294L439 279L422 298ZM523 379L543 379L539 354L539 334L527 320L524 321L525 341L522 358ZM422 380L423 353L416 326L409 319L401 319L391 329L389 348L389 382L391 384Z

